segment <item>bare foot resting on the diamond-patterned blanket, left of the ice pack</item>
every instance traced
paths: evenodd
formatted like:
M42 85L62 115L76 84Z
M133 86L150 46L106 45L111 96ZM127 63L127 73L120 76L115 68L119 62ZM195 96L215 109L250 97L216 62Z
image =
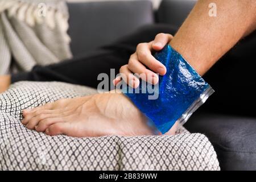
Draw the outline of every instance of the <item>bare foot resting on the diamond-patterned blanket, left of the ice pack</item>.
M64 99L23 110L23 125L48 135L71 137L160 134L134 104L119 93Z

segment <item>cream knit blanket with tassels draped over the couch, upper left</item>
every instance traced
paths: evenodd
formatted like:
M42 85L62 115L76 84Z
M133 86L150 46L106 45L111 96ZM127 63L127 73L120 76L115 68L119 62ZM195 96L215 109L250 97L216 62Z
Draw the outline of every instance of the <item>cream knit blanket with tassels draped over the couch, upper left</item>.
M68 16L62 0L0 0L0 75L71 58Z

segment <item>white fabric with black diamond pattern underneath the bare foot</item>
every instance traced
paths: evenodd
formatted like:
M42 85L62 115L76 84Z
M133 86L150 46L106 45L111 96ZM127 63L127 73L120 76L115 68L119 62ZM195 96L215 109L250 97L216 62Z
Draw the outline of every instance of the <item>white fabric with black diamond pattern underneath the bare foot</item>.
M0 170L220 170L208 138L184 128L172 136L73 138L20 122L22 109L94 93L61 82L17 82L0 94Z

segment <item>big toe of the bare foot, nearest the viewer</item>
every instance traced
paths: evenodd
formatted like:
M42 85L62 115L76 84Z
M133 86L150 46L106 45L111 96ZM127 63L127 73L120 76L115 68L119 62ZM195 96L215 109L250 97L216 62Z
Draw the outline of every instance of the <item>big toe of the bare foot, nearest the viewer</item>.
M61 135L61 134L67 134L69 130L69 123L68 122L61 122L61 123L55 123L46 129L47 135Z

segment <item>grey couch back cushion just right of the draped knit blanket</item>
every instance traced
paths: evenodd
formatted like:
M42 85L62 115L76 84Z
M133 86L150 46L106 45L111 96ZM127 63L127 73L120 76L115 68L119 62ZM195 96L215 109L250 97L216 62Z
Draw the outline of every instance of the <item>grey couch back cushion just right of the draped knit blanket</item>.
M71 50L77 56L154 22L150 1L68 3Z

